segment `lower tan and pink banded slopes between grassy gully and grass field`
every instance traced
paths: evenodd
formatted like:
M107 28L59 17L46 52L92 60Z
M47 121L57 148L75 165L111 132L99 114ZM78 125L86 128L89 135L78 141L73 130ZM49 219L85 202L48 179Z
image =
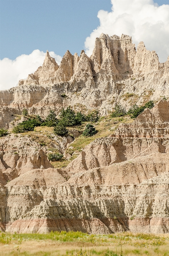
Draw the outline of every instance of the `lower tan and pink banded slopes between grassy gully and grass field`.
M10 166L6 154L2 164ZM169 101L86 146L64 169L66 179L42 158L8 183L8 166L0 172L1 230L169 232Z

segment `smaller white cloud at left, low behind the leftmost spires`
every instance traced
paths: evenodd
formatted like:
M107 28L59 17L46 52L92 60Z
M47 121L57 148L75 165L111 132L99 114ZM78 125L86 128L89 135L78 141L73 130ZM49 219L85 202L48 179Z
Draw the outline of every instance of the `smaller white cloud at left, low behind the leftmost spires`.
M0 60L0 90L14 87L20 79L25 79L29 74L34 73L39 66L42 66L45 54L39 50L34 50L29 55L18 56L15 60L8 58ZM60 64L61 56L54 52L49 52L49 54L55 58L57 64Z

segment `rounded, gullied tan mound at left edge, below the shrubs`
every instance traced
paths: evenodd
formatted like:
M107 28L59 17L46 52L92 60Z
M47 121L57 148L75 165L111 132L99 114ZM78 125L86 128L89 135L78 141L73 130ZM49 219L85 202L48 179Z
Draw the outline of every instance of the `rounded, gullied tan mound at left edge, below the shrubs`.
M5 173L6 180L10 176L36 168L52 167L41 145L28 136L9 134L0 139L0 169Z

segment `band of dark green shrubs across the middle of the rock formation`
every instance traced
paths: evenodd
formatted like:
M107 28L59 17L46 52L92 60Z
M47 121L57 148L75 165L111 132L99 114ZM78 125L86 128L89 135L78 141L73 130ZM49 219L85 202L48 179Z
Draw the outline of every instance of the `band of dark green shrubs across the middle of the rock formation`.
M142 113L145 108L154 107L154 102L149 101L144 106L138 107L136 104L133 105L128 111L121 104L116 104L115 111L110 115L110 117L124 117L130 115L131 118L136 118L140 113ZM27 116L27 110L24 109L23 113ZM57 119L56 113L53 110L50 110L48 116L45 120L42 120L40 116L35 116L33 118L29 117L28 120L19 123L12 130L13 133L23 133L26 131L33 131L36 126L48 126L54 127L54 133L59 136L66 136L68 130L66 127L71 126L80 126L83 122L96 123L100 118L100 114L97 110L92 111L87 116L81 112L75 113L71 107L63 110L59 114L59 119ZM92 135L94 135L93 133ZM85 136L89 136L85 135ZM91 135L90 135L91 136Z

